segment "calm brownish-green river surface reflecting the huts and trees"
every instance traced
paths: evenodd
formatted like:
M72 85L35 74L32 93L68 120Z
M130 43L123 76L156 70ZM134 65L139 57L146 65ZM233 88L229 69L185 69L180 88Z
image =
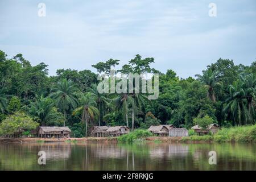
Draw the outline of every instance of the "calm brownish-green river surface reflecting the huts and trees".
M46 151L46 165L38 152ZM210 165L209 151L217 164ZM256 170L256 144L0 143L0 170Z

